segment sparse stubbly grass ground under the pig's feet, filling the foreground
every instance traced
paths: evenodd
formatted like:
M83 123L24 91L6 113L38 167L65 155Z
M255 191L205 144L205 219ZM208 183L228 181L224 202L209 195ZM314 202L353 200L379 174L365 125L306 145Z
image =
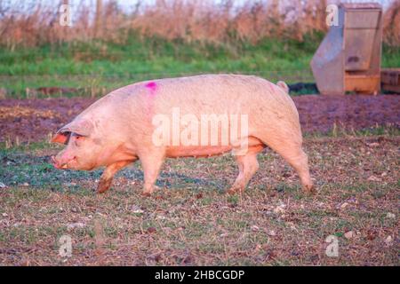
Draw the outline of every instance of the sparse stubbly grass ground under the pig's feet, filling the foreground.
M97 195L100 170L54 170L56 146L2 144L0 264L398 265L399 133L355 134L307 136L316 195L269 150L243 195L224 193L237 173L224 155L169 160L143 198L140 163ZM325 255L329 235L338 257Z

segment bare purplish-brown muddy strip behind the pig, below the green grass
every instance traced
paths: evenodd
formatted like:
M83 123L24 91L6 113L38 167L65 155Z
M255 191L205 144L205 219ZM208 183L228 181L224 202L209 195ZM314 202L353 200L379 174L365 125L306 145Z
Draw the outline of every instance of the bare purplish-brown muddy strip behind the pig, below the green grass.
M47 138L72 120L95 99L2 99L0 100L0 141ZM377 125L400 123L400 96L328 97L305 95L293 98L304 132L328 132L334 125L360 130Z

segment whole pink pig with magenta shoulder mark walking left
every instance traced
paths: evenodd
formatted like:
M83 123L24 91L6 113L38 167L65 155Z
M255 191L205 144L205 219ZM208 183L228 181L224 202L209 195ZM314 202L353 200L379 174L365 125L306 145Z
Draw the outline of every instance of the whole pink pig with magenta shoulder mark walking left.
M57 169L70 170L105 167L97 186L98 193L105 193L118 170L140 160L144 172L142 193L148 196L155 190L165 158L232 152L239 174L228 193L242 193L259 169L257 155L268 146L297 171L304 191L310 193L314 186L308 156L302 149L299 114L288 91L284 82L274 84L253 75L194 75L133 83L111 91L58 130L52 142L66 147L52 156L52 164ZM195 143L199 141L196 139L192 144L171 143L173 135L165 135L163 143L159 143L160 139L155 139L160 124L156 116L171 117L177 109L198 121L204 114L240 115L247 124L237 129L247 131L224 144L220 129L214 144L211 138L204 139L205 143ZM228 124L232 126L233 122ZM218 125L222 128L222 123ZM183 122L172 122L164 130L174 127L176 133L187 130ZM198 129L197 124L192 128ZM195 134L189 136L195 138Z

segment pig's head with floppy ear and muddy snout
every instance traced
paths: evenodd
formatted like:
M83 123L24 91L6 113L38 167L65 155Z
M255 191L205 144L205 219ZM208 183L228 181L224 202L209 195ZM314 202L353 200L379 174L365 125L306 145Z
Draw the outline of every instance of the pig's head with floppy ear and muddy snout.
M100 166L104 153L102 139L96 137L92 122L74 121L62 127L52 138L52 142L66 145L52 164L57 169L92 170Z

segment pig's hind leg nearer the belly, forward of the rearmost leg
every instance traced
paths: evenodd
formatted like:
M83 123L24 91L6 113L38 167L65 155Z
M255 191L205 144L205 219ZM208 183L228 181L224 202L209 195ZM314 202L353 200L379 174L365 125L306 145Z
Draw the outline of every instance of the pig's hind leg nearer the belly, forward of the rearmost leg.
M259 170L259 162L257 154L259 154L264 146L251 146L246 154L236 154L236 163L239 167L239 175L236 177L235 183L230 189L229 194L242 193L249 183L252 176Z

